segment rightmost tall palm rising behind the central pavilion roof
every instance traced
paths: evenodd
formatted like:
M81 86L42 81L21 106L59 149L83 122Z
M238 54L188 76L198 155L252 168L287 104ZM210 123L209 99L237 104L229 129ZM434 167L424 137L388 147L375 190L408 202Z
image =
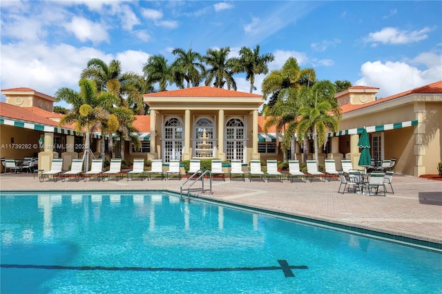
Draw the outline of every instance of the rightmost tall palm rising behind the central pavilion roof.
M253 92L256 87L255 75L265 74L269 72L267 63L273 61L275 57L271 53L260 55L260 46L256 45L253 51L250 48L242 47L240 49L240 57L233 58L233 69L235 73L245 72L246 81L250 81L250 93Z

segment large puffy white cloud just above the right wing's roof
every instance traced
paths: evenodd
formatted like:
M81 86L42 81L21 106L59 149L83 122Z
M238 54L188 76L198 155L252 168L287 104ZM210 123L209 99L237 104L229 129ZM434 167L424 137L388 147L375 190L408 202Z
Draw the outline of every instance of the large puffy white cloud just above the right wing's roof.
M415 65L415 66L413 66ZM416 66L423 66L423 69ZM380 88L378 97L388 97L442 79L442 55L424 52L409 61L367 61L361 66L362 78L355 85Z

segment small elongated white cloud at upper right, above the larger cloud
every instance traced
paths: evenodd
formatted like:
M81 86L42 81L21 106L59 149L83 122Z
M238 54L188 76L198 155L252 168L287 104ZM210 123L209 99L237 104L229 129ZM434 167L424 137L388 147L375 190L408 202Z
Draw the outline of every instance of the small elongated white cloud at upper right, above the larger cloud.
M366 43L373 43L372 46L377 46L378 43L391 44L406 44L414 43L427 39L427 33L430 28L423 28L422 30L398 30L397 28L383 28L378 32L370 32L365 37Z

